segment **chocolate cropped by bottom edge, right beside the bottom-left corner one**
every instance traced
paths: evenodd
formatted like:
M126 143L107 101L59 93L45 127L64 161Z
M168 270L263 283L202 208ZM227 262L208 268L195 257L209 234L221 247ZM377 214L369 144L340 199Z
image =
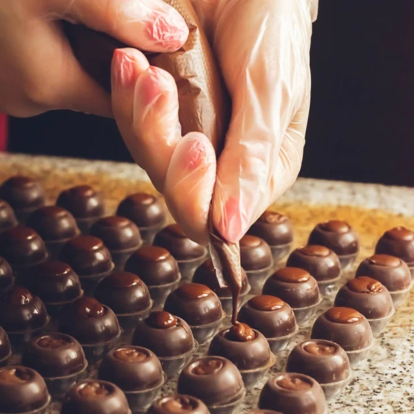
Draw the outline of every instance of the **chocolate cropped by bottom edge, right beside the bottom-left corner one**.
M62 402L61 414L130 414L128 401L111 382L83 380L75 384Z

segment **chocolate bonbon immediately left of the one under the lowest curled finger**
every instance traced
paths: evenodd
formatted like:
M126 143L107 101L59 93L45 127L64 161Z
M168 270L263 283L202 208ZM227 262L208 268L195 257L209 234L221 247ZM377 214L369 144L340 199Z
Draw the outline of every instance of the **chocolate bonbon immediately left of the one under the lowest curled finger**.
M142 244L139 228L125 217L103 217L90 228L90 234L103 241L112 261L120 270L124 269L128 257Z

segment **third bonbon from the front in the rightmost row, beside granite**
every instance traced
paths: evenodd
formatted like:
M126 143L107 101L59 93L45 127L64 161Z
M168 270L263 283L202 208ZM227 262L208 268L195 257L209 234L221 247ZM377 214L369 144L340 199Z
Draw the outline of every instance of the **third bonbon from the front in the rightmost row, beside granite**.
M355 309L329 308L313 324L312 339L327 339L342 346L351 366L359 364L373 345L373 333L366 317Z

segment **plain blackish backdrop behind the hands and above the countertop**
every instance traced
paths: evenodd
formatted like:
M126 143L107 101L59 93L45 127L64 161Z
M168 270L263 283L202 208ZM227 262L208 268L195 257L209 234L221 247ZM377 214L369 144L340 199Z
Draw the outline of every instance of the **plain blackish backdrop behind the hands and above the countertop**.
M414 186L414 1L319 0L301 175ZM11 119L10 150L132 161L115 122Z

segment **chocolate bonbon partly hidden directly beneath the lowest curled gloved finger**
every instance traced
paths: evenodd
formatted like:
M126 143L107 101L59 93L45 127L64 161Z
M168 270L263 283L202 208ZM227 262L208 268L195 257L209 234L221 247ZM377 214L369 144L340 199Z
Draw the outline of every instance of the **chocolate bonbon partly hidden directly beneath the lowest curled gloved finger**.
M207 256L206 247L189 239L178 224L170 224L157 233L154 246L166 248L177 260L183 279L188 280Z

